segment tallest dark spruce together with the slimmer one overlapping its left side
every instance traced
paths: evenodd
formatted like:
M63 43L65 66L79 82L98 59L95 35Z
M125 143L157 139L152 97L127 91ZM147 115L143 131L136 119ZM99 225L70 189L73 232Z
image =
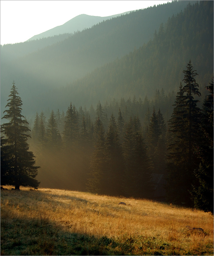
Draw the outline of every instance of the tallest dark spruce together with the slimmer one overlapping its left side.
M169 132L172 134L168 143L168 196L174 203L191 205L191 184L195 185L194 169L199 162L194 154L196 143L200 141L199 123L200 109L198 100L194 96L200 96L198 84L194 77L191 61L187 64L187 70L183 70L185 86L180 86L180 92L176 98L176 106L169 121Z

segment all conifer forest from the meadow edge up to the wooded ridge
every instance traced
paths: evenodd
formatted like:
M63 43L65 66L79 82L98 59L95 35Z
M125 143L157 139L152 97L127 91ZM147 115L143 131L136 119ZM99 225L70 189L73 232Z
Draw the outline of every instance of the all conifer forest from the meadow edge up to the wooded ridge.
M213 214L213 1L173 1L56 37L1 45L1 188Z

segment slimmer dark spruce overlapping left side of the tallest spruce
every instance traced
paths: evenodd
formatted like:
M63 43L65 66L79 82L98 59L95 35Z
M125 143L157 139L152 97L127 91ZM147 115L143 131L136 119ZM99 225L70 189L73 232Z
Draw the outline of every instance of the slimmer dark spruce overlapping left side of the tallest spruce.
M183 155L187 154L187 144L183 138L187 124L183 119L187 110L182 84L176 95L175 106L168 122L167 140L167 198L168 201L181 204L186 197L185 162Z

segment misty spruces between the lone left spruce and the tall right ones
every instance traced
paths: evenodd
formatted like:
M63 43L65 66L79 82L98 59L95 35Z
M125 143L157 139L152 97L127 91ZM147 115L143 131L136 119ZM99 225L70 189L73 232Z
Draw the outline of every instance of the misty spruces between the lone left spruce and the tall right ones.
M132 192L128 192L127 190L129 186L125 184L130 179L131 174L128 175L127 173L125 178L125 173L122 173L125 168L125 159L122 152L124 150L129 151L128 148L125 149L128 147L128 143L131 143L129 145L130 147L133 143L137 143L134 141L138 138L143 144L136 146L143 147L144 145L145 148L149 147L145 151L145 161L148 161L149 172L165 173L165 163L162 161L164 158L160 156L161 161L159 161L158 157L155 156L154 159L151 160L149 154L154 154L152 148L155 148L156 152L161 150L157 148L158 140L161 134L163 134L162 136L164 136L165 139L165 120L167 120L172 113L171 105L174 100L174 92L165 95L164 90L161 89L160 91L155 91L154 97L151 100L147 97L145 97L144 100L141 98L136 100L136 97L134 97L126 101L124 98L121 98L120 102L113 100L110 104L106 102L104 105L101 105L99 101L96 108L91 105L89 110L81 106L77 109L71 103L67 112L60 112L58 109L58 111L54 113L52 110L47 119L43 111L40 114L36 113L30 144L36 154L38 165L41 165L41 171L39 172L41 185L83 191L89 189L90 191L100 191L100 193L111 195L123 194L128 196L134 193L132 196L143 196L142 193L139 194L138 190L134 191L134 189L132 189ZM162 112L158 106L161 106ZM159 128L156 127L157 121ZM153 124L153 122L155 122L155 124ZM132 142L129 142L126 138L126 132L128 132L128 130L130 136L132 136L132 139L131 137L129 138ZM155 141L154 138L152 138L154 134L156 138ZM111 138L113 140L112 143L116 144L109 145L110 148L108 149L110 153L110 149L116 147L115 152L111 152L111 154L114 155L114 161L109 155L106 155L107 151L105 149L105 157L111 159L111 167L109 167L111 174L109 173L110 170L106 171L105 173L109 173L109 175L107 175L108 178L107 176L102 178L103 184L106 184L105 189L104 185L100 187L100 185L95 182L96 177L92 178L94 173L90 171L90 165L92 165L91 161L94 159L95 164L95 155L98 154L95 148L97 148L97 143L101 143L98 141L99 136L101 136L103 140L102 143L104 143L102 145L103 150L104 147L107 146L108 136L116 136L115 138ZM160 147L160 145L158 147ZM136 154L138 150L139 148L136 149ZM118 159L119 155L120 160ZM55 159L57 159L57 162ZM133 165L136 166L136 157L131 157L131 159ZM129 160L126 159L127 164ZM105 160L103 161L105 162ZM154 164L156 162L159 163ZM117 167L114 166L116 163L118 164ZM142 167L140 167L139 162L138 169ZM62 169L63 173L59 171ZM131 167L129 167L129 169L129 172L131 172ZM145 168L145 171L146 170L147 168ZM113 175L113 173L115 173L115 175ZM136 170L136 173L140 173L140 171ZM147 173L146 171L144 175L147 175ZM143 177L141 177L141 179L143 179ZM148 177L143 180L148 181L149 179ZM58 182L55 182L55 180L58 180ZM113 184L116 185L116 183L118 183L118 185L113 186ZM97 185L95 186L95 184ZM111 186L109 184L111 184ZM133 186L135 186L134 183ZM146 191L148 192L149 189L146 189Z

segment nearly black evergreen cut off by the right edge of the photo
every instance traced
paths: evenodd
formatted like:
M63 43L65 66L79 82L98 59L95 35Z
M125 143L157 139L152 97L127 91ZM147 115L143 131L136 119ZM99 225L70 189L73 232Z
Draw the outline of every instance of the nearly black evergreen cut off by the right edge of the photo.
M193 185L191 196L194 207L213 215L213 79L207 89L210 95L204 100L202 112L203 142L197 144L199 167L194 174L198 185Z

